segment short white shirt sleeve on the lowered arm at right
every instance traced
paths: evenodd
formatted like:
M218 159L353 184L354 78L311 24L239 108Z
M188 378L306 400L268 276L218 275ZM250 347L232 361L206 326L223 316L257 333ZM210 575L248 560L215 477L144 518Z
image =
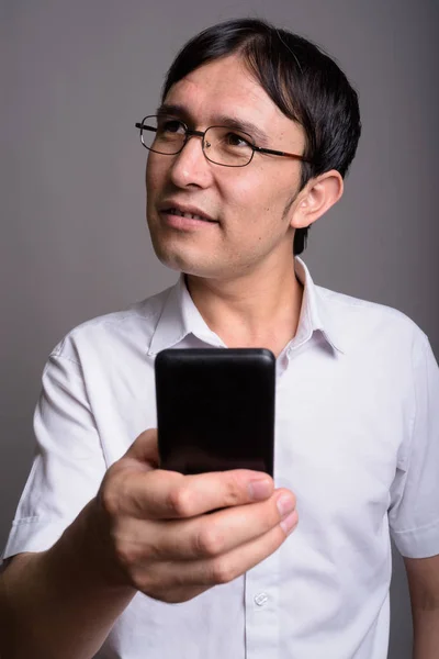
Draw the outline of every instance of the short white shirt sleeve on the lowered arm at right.
M415 417L405 463L398 466L389 511L391 534L401 554L439 554L439 369L421 334L413 358Z

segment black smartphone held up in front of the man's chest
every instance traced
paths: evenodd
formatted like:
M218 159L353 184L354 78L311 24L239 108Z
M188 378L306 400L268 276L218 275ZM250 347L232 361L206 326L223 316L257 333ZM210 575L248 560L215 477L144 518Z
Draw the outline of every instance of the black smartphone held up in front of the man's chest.
M160 468L273 476L275 358L266 348L188 348L155 362Z

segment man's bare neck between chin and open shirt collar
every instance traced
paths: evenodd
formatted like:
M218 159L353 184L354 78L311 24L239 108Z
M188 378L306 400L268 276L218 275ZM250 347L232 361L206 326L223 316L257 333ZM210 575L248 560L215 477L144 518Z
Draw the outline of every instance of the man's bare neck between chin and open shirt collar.
M229 280L187 276L191 298L209 327L229 347L264 347L278 356L295 336L303 287L294 260L282 270Z

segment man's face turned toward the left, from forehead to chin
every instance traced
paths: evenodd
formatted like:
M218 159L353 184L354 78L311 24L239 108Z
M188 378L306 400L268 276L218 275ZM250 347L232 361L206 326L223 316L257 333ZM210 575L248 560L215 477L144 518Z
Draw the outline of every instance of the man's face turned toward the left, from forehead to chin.
M304 132L272 102L240 58L204 65L177 82L165 99L179 107L192 130L224 125L224 118L251 123L258 146L302 154ZM248 133L251 131L246 129ZM282 268L292 259L294 212L301 164L255 153L246 167L222 167L191 137L175 156L150 152L146 169L147 220L158 258L199 277L228 279ZM214 222L169 212L191 209ZM261 270L262 271L262 270Z

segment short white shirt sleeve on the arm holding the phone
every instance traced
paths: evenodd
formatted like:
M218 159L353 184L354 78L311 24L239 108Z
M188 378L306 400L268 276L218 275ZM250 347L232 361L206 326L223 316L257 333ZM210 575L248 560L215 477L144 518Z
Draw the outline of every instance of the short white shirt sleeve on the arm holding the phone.
M34 415L35 458L2 559L43 551L97 494L105 460L81 367L54 351Z

